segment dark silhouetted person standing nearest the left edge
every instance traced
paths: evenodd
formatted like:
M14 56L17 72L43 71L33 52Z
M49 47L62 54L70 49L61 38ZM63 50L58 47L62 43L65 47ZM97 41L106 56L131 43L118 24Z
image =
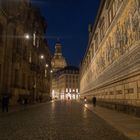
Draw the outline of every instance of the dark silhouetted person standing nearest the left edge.
M9 106L9 97L8 95L4 95L2 97L2 112L4 111L8 112L8 106Z

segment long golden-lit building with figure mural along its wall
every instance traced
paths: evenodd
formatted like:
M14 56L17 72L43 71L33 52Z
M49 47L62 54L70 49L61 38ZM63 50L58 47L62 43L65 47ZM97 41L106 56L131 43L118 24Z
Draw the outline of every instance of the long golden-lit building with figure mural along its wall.
M140 107L140 1L102 0L80 68L80 94ZM125 108L126 109L126 108Z

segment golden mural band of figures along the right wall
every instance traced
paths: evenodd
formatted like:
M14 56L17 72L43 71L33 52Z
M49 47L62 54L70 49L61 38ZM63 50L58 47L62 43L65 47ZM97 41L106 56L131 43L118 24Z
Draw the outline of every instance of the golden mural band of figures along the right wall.
M105 50L96 57L90 72L92 76L88 75L88 79L95 79L115 59L128 52L135 41L140 40L140 0L135 0L135 6L130 10L124 22L118 22L116 30L106 40Z

